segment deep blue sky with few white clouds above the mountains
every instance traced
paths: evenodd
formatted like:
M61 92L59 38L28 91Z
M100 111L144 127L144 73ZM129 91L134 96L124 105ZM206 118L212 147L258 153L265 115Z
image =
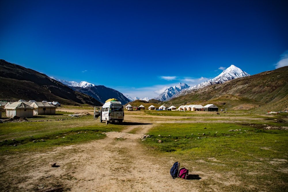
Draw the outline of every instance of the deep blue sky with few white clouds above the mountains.
M288 65L288 1L0 1L0 59L132 97Z

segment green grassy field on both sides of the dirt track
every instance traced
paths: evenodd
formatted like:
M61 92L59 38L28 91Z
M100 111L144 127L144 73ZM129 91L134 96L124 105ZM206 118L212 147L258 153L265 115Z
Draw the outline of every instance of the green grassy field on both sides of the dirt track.
M103 132L120 132L130 126L105 125L94 120L93 115L69 114L57 111L56 115L38 115L27 122L0 123L0 154L49 151L57 146L103 139ZM223 182L213 178L199 180L200 191L288 191L287 113L263 117L235 112L216 115L147 110L129 114L141 114L135 118L155 124L147 133L149 138L139 139L150 155L176 159L191 174L202 172L222 178ZM161 122L155 123L158 120ZM171 120L182 123L168 122ZM268 130L267 126L274 128ZM139 130L136 127L129 133ZM225 184L229 180L237 180L237 184Z

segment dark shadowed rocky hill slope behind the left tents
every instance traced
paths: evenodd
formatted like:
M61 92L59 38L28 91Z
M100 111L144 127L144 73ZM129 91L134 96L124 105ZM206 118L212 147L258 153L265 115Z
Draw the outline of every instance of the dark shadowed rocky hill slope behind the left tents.
M61 104L102 103L86 94L73 91L68 86L43 73L0 60L0 100L58 101Z

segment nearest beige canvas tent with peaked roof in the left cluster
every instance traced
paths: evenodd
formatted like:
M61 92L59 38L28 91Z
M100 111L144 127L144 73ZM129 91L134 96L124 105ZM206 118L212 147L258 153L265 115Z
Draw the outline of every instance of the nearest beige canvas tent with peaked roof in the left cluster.
M34 108L24 102L13 102L4 109L6 109L6 117L33 117Z

